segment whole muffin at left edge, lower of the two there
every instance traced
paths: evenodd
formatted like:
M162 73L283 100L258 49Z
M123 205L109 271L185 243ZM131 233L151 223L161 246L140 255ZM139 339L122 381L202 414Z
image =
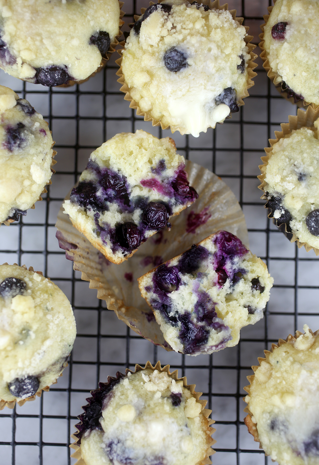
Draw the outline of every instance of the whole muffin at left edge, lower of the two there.
M76 337L64 293L26 266L0 266L0 410L40 395L62 373Z

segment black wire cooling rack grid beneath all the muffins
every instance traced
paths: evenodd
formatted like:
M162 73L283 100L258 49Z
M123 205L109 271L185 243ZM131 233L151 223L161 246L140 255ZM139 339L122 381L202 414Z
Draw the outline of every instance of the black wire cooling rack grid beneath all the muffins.
M143 6L148 6L147 0L125 2L127 24ZM244 24L250 27L255 43L267 6L268 0L232 0L229 4L230 9L236 8L237 16L245 17ZM255 51L259 53L258 47ZM257 189L263 147L268 145L268 138L274 137L274 130L280 129L280 123L287 122L289 114L296 114L296 106L277 93L258 59L255 86L239 113L197 139L173 134L180 154L214 171L236 194L249 228L250 248L267 263L274 287L264 319L243 328L236 347L196 358L166 352L130 331L105 302L96 298L96 291L89 290L80 273L73 271L72 262L65 259L55 239L54 224L61 202L92 150L122 131L144 129L157 137L171 135L129 109L116 82L115 55L94 78L65 89L23 83L0 73L1 84L29 100L48 121L58 162L43 201L37 202L35 210L29 210L19 223L1 227L0 261L33 266L53 279L70 299L77 320L77 339L63 377L40 399L0 412L0 464L74 464L68 447L70 434L75 431L89 390L117 370L124 372L148 359L178 368L179 376L186 375L189 384L196 383L197 391L203 391L212 409L211 417L216 420L213 464L270 464L243 424L246 376L272 342L301 330L304 323L313 331L319 327L318 259L313 252L298 250L267 219Z

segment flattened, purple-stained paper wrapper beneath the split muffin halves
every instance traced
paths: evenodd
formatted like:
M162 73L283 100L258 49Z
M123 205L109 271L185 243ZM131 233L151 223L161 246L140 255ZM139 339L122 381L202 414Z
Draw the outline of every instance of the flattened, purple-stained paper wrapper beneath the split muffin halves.
M80 233L61 207L57 215L57 239L65 256L73 260L73 268L81 271L81 279L89 281L89 288L97 290L97 298L106 301L109 310L143 338L167 351L159 324L145 299L142 298L137 278L154 266L176 257L192 244L224 229L235 234L248 246L248 232L242 209L230 188L211 171L186 161L190 186L198 199L179 215L170 219L172 229L147 239L138 251L120 265L110 263ZM196 227L198 223L198 227Z

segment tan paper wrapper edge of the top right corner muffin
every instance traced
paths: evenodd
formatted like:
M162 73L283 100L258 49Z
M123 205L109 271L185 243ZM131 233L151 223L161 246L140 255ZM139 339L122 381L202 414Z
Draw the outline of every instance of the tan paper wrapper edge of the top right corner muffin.
M274 0L274 3L276 3L276 0ZM267 56L267 51L264 47L264 32L265 32L265 26L267 24L267 21L269 19L269 16L270 16L270 13L272 11L274 7L268 7L268 13L269 14L265 14L263 16L264 18L264 24L261 25L261 30L262 30L262 33L259 34L259 38L260 38L260 43L258 44L259 45L259 48L261 49L261 54L260 54L260 57L263 61L263 64L262 66L265 68L265 70L267 71L267 76L268 78L274 83L274 85L276 86L276 89L277 91L286 99L288 100L289 102L293 103L293 104L296 104L299 108L303 108L303 107L306 107L308 105L312 106L314 109L317 109L319 108L319 105L316 105L315 103L311 103L311 102L307 102L306 100L304 99L301 99L301 100L296 100L294 97L291 97L288 95L289 93L289 89L286 89L286 88L283 88L283 85L282 85L282 77L280 74L278 74L277 72L273 71L271 66L270 66L270 63L269 63L269 60L268 60L268 56Z

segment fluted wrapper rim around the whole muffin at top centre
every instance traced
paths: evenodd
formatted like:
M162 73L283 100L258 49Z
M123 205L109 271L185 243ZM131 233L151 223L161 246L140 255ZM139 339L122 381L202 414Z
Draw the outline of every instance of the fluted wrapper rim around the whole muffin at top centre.
M159 3L161 3L161 2L159 1ZM210 7L210 9L216 8L218 10L225 10L225 11L228 10L227 3L225 5L220 6L219 5L219 0L214 0L214 1L203 0L203 1L201 1L201 3L203 5L208 5ZM154 2L151 1L150 5L154 5ZM141 8L141 14L144 14L145 11L146 11L146 8ZM231 14L231 16L232 16L232 18L234 20L238 21L239 24L242 24L243 18L236 18L236 10L229 10L229 12L230 12L230 14ZM138 15L134 15L134 20L135 21L138 20L138 18L139 18ZM247 33L248 30L249 30L249 27L247 27L247 26L244 26L244 27L245 27L246 33ZM248 46L248 49L249 49L248 52L250 54L250 60L248 62L248 66L247 66L248 80L247 80L247 86L245 88L244 94L238 100L238 106L244 105L244 102L243 102L242 99L249 96L248 89L249 89L249 87L252 87L255 84L252 79L257 75L257 73L255 73L255 71L254 71L255 67L257 66L257 64L254 62L254 60L257 58L258 55L256 55L253 52L253 50L255 48L255 45L250 43L250 40L252 40L252 39L253 39L252 35L247 35L245 37L245 42L246 42L246 45ZM118 69L117 72L116 72L116 74L118 76L120 76L119 79L117 80L117 82L119 82L122 85L120 91L125 93L124 100L128 100L130 102L129 107L134 108L134 110L136 110L136 114L138 116L144 116L144 121L152 121L152 126L159 126L160 125L162 129L170 128L172 133L174 133L175 131L179 131L182 135L184 135L186 133L185 129L181 129L178 126L164 125L161 120L157 120L157 119L153 118L151 113L143 112L140 109L138 102L135 102L135 100L131 97L131 94L129 92L129 87L128 87L127 83L125 82L125 78L124 78L123 71L122 71L122 66L121 66L121 63L122 63L122 50L124 50L125 40L120 42L120 46L121 46L121 49L118 50L118 53L121 55L121 58L119 58L119 59L117 59L115 61L115 63L120 66L120 69ZM229 115L229 118L231 118L231 113ZM220 124L223 124L223 123L220 123ZM206 132L206 131L207 131L207 129L204 132Z

